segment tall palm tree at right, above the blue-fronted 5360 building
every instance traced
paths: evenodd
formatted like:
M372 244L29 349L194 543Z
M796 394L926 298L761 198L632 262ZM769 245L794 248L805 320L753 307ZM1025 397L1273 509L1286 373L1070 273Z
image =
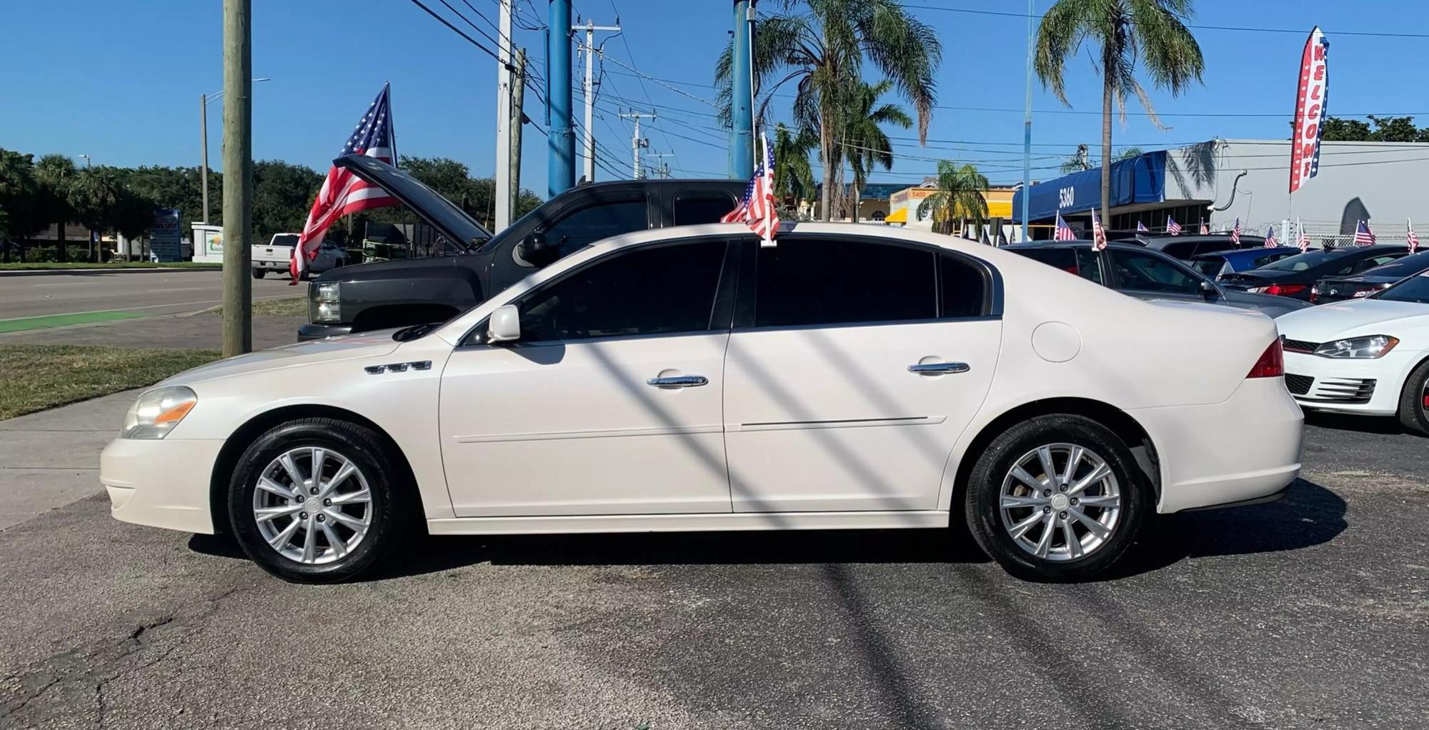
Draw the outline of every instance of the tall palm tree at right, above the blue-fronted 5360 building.
M1112 104L1126 123L1126 93L1132 91L1153 124L1160 119L1152 100L1136 80L1142 61L1152 83L1180 96L1205 70L1200 46L1185 21L1192 0L1057 0L1037 27L1036 70L1043 86L1052 87L1063 104L1063 70L1083 40L1097 44L1095 63L1102 74L1102 159L1112 159ZM1102 166L1102 220L1110 217L1112 166Z

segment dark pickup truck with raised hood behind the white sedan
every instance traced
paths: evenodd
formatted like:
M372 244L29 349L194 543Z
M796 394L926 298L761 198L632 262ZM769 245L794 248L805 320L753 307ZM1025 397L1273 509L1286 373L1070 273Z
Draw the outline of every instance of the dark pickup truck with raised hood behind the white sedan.
M363 156L333 164L380 186L440 234L443 256L344 266L309 284L299 340L443 321L584 246L666 226L716 223L739 180L623 180L570 189L492 236L412 176Z

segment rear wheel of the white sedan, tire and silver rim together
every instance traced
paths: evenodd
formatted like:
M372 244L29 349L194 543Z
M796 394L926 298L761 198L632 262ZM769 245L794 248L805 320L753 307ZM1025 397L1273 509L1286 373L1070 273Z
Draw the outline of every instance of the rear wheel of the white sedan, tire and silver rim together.
M1149 493L1110 429L1082 416L1039 416L993 439L973 464L967 527L1016 577L1086 580L1130 547Z

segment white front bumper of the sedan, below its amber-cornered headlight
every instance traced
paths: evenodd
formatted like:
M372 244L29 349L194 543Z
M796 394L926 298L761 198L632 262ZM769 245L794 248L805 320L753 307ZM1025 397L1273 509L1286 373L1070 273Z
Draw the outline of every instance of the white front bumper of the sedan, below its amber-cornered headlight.
M221 440L114 439L99 454L99 480L116 520L213 534L209 477Z

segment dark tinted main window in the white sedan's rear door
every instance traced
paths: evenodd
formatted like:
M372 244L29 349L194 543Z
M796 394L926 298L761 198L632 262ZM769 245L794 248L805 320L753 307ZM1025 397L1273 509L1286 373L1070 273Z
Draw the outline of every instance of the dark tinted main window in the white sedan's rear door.
M756 327L937 317L933 251L800 239L756 256Z

